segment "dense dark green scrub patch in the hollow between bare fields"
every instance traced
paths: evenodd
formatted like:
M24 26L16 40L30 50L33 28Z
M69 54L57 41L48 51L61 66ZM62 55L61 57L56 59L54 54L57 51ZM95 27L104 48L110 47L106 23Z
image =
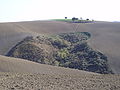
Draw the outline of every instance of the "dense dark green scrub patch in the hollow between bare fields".
M107 57L87 44L90 37L88 32L26 37L7 56L101 74L113 73Z

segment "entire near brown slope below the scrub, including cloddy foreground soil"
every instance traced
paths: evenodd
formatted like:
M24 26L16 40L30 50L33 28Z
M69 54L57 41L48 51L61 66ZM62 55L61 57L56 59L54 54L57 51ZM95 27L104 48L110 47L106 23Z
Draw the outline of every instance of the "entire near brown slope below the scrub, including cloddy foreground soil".
M0 56L1 90L119 90L119 75L100 75Z

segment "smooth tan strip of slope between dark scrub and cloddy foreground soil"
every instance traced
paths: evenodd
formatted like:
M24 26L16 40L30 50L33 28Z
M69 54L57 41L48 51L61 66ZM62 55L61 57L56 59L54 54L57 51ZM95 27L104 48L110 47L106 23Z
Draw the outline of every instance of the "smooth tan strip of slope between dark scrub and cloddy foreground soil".
M39 74L94 74L69 68L38 64L25 59L11 58L0 55L0 72L39 73Z

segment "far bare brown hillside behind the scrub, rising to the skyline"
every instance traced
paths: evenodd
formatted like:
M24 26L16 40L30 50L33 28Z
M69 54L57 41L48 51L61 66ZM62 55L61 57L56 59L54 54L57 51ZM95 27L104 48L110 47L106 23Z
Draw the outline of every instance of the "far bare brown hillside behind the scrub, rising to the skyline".
M77 27L77 29L76 29ZM120 73L120 23L95 22L71 24L58 21L31 21L0 24L0 54L31 34L54 34L71 31L90 32L90 45L107 55L110 66Z

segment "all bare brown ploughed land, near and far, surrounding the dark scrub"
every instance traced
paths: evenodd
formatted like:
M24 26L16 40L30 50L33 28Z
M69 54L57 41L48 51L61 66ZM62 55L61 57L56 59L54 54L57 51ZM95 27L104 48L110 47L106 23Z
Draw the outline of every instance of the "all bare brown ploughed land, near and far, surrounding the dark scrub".
M120 90L120 23L29 21L0 23L1 90ZM4 56L28 36L89 32L88 45L107 55L116 74L98 74Z

